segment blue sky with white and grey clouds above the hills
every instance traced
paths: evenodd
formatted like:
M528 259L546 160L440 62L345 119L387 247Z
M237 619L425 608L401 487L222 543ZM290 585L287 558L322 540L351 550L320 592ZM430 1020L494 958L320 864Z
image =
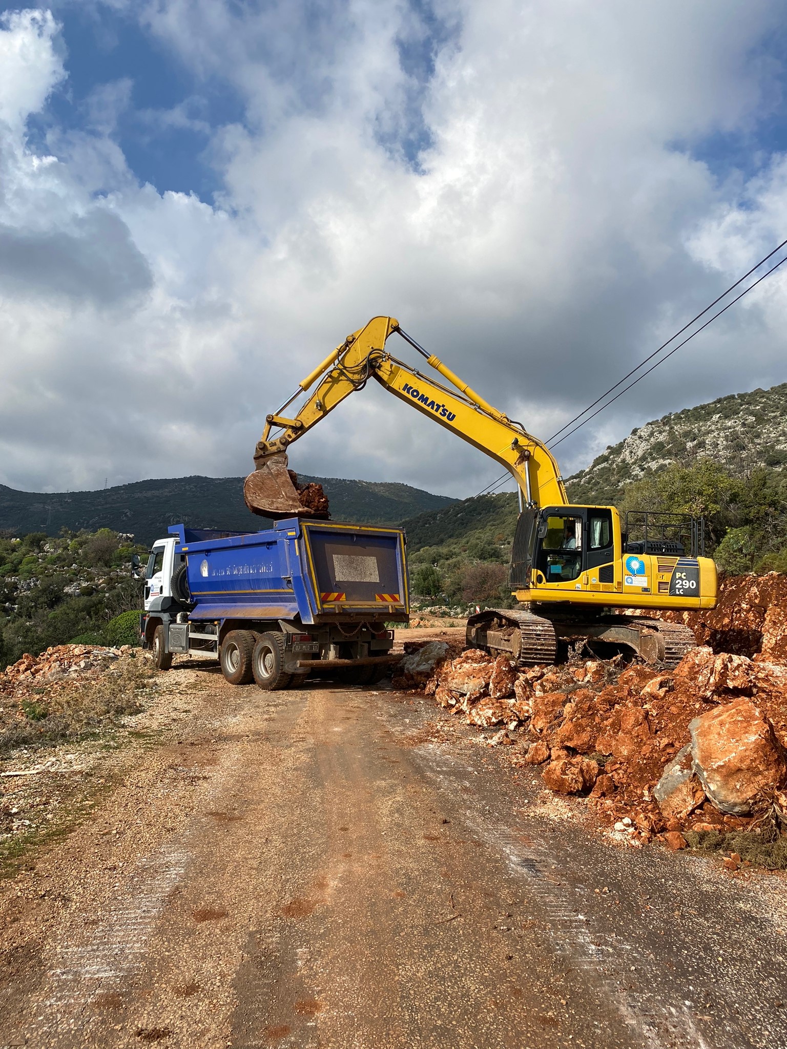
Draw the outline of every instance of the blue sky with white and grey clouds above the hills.
M377 314L547 437L787 237L784 0L2 9L0 484L246 473ZM786 321L780 271L563 473L787 381ZM498 475L373 386L291 465L458 496Z

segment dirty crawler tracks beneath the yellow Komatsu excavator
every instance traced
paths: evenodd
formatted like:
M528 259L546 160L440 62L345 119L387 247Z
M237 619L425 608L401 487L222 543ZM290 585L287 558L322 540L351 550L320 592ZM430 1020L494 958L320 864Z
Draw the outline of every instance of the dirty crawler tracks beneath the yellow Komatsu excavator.
M519 608L488 608L467 621L467 644L494 655L510 655L520 666L554 663L558 639L602 642L639 656L646 663L677 666L696 645L692 630L682 623L666 623L650 616L547 618Z

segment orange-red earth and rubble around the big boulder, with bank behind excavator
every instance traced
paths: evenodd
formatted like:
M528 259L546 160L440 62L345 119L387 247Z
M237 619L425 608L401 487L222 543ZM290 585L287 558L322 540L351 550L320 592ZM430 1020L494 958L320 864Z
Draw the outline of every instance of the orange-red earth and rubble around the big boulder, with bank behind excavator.
M784 866L784 783L774 782L743 815L721 812L699 784L678 813L660 807L654 789L689 744L689 723L742 699L787 751L787 577L725 579L717 608L664 618L686 623L700 645L673 669L618 657L523 672L506 657L462 650L460 639L450 639L431 675L405 673L395 684L423 688L468 724L493 730L487 742L509 748L514 766L539 766L555 793L586 796L621 840L643 844L658 836L673 849L729 851L736 864Z

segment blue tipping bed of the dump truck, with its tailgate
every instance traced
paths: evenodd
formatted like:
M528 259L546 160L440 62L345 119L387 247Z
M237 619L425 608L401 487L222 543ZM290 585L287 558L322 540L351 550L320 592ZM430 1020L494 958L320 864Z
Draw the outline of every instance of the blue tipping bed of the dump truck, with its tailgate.
M191 620L312 624L409 611L400 529L291 517L262 532L169 531L186 558Z

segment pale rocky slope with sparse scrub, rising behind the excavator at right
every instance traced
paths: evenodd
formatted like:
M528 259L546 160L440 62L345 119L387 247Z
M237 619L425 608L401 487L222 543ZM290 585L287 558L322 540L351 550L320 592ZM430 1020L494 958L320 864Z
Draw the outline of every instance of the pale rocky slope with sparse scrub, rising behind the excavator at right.
M733 476L787 463L787 383L731 393L663 415L629 436L566 481L579 504L616 504L625 485L671 463L707 457Z

